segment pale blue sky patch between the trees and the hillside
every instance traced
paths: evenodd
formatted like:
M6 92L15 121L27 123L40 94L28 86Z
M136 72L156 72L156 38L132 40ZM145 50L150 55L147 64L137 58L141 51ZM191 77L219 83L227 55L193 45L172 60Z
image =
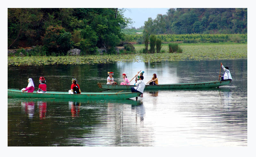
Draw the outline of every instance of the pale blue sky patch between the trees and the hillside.
M166 14L170 8L127 8L124 12L124 17L131 18L134 22L132 27L139 28L144 26L144 22L151 17L153 20L156 19L157 14Z

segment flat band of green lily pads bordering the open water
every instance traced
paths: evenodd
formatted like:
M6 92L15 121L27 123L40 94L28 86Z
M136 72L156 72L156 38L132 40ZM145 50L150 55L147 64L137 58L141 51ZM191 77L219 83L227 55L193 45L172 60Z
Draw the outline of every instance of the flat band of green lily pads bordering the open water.
M162 44L162 53L142 54L143 44L134 45L136 54L88 55L60 57L8 57L8 65L95 64L113 62L157 62L173 60L247 59L246 43L181 43L183 53L167 53L168 44Z

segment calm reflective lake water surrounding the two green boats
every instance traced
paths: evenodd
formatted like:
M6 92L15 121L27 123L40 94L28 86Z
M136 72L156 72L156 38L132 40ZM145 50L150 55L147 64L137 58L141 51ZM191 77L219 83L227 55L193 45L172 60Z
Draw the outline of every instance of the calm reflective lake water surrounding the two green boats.
M125 100L8 98L8 146L247 146L247 59L221 60L231 84L219 89L156 90ZM97 82L123 81L143 70L159 84L217 81L220 60L8 66L8 88L39 77L48 91L67 91L72 78L82 92ZM221 71L223 75L224 71ZM134 83L134 81L132 81Z

